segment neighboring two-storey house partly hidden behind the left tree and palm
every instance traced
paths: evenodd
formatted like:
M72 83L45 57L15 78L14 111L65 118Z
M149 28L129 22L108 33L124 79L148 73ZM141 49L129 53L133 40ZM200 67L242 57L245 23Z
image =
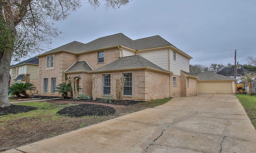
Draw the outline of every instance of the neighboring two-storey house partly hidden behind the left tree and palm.
M30 74L30 83L36 86L38 89L38 78L39 78L39 59L32 57L26 61L22 61L18 64L10 66L10 85L14 83L25 82L24 74ZM32 93L37 93L37 90Z

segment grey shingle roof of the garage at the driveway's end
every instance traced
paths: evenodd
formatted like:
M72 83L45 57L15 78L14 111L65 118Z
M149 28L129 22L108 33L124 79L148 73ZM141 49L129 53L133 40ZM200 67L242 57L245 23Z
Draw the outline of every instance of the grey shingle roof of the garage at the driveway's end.
M220 75L218 73L213 73L209 71L200 73L196 75L196 77L198 77L199 80L236 80L234 78L226 77L224 75Z

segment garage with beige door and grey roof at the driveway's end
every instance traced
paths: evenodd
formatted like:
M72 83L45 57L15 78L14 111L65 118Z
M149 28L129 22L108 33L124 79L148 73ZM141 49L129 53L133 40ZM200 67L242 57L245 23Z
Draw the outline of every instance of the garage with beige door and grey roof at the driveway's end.
M196 75L198 94L235 94L236 79L205 71Z

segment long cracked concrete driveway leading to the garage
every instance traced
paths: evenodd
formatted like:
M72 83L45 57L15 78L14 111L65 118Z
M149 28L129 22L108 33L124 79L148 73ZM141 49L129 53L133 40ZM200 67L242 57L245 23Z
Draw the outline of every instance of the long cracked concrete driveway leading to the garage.
M256 130L232 94L170 102L5 153L254 153Z

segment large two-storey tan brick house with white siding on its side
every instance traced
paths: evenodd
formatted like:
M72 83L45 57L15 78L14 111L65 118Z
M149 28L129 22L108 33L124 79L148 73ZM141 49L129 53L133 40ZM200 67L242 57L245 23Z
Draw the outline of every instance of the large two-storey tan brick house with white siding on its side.
M188 75L189 55L159 35L132 40L122 33L89 43L73 41L38 55L38 94L58 96L55 86L78 77L82 92L96 98L115 94L116 80L126 77L124 100L196 95L196 77ZM92 83L95 76L95 84Z

